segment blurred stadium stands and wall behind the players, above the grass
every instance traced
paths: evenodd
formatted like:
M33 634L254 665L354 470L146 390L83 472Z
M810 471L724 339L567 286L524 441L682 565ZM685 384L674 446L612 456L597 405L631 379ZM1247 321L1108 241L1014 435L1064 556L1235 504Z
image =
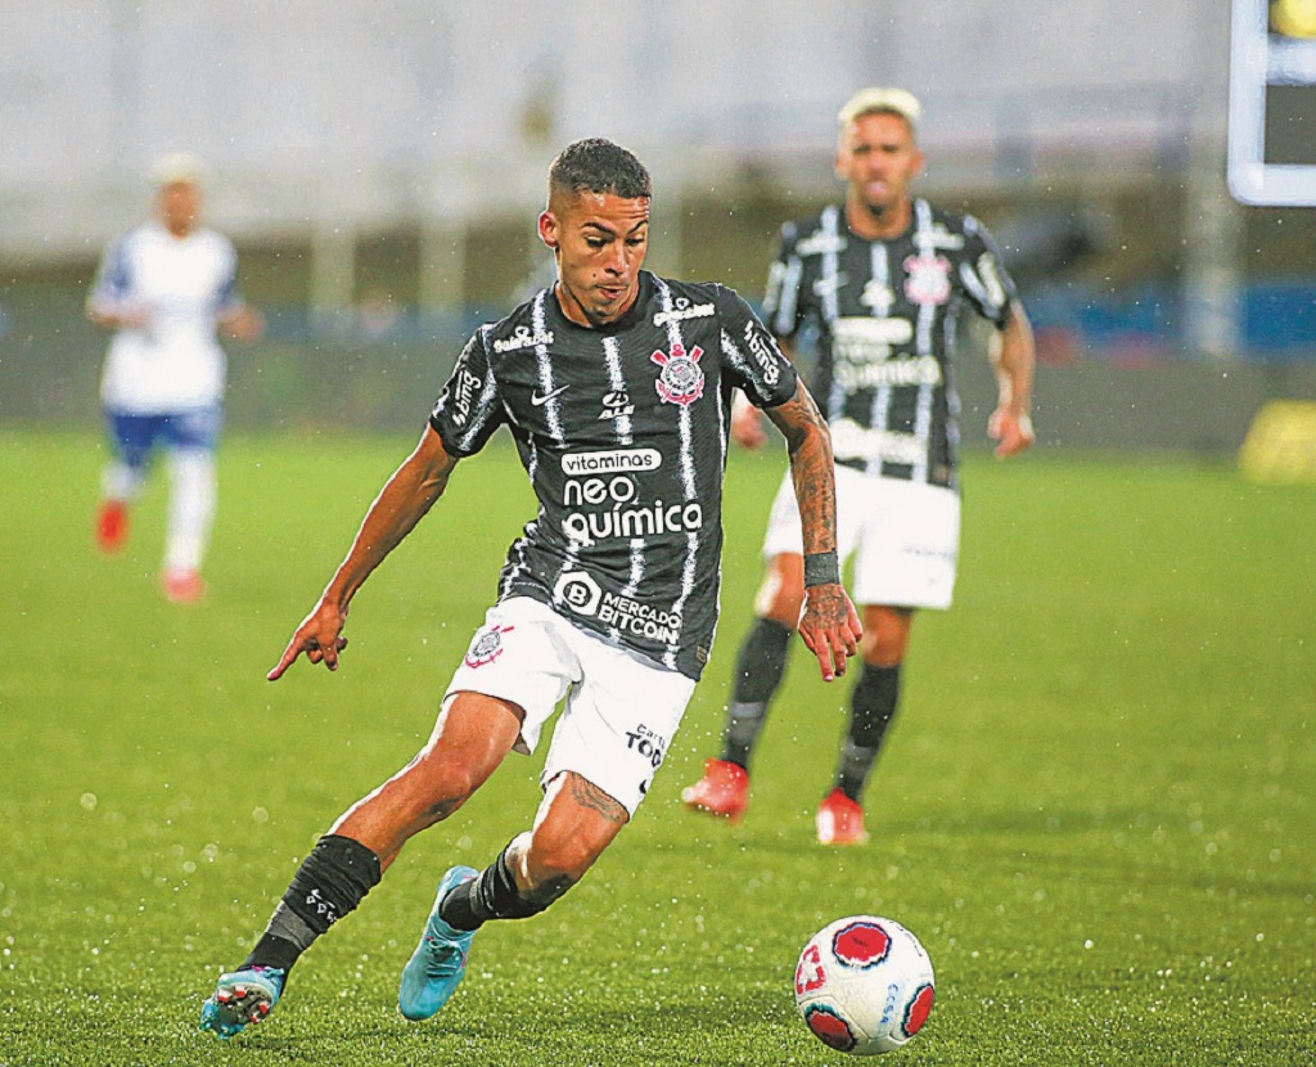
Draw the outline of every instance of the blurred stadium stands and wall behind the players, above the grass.
M82 300L163 151L208 165L270 316L232 352L230 425L411 428L547 269L558 148L633 148L651 266L757 299L778 225L840 194L834 113L870 83L923 97L921 191L1007 246L1044 444L1224 453L1267 398L1316 397L1316 212L1229 196L1224 0L47 0L0 40L0 420L95 424Z

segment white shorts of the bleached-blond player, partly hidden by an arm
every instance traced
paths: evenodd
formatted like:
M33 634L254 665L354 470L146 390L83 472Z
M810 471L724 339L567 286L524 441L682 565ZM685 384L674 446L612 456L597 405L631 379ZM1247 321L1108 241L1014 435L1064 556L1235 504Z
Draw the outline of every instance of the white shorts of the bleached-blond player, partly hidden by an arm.
M950 607L959 555L959 494L899 478L836 469L836 532L842 564L854 555L861 605ZM790 472L772 501L763 556L804 551Z

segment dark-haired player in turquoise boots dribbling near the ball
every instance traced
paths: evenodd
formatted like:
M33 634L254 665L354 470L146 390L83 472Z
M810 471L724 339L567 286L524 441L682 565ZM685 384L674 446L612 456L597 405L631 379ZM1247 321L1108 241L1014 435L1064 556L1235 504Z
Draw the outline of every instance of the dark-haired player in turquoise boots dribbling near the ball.
M649 790L708 657L736 390L787 440L805 552L800 634L828 680L857 651L825 422L732 290L641 270L650 196L647 171L611 141L558 155L540 216L555 285L466 344L420 444L271 670L280 677L303 653L337 668L353 595L458 461L505 424L540 508L508 551L497 603L429 742L320 839L250 956L220 977L203 1029L232 1037L261 1021L297 956L361 902L407 839L461 807L509 751L532 752L563 697L532 827L483 871L443 875L403 971L401 1013L433 1016L482 923L542 912L599 859Z

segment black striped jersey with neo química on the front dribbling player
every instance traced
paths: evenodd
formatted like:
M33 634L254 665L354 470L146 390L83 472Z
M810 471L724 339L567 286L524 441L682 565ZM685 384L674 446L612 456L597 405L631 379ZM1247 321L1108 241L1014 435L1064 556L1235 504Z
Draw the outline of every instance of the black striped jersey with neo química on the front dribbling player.
M508 551L499 599L533 597L697 678L717 622L732 390L772 407L796 381L734 291L649 271L597 329L567 319L551 288L480 327L430 425L457 457L503 424L516 439L540 511Z

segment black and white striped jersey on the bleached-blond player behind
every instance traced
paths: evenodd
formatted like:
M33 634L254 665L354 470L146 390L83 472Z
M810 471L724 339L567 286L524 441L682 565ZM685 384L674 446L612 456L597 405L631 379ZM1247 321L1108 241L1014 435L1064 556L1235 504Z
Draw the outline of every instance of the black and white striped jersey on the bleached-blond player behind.
M812 391L837 464L954 486L958 319L967 304L1003 327L1015 295L982 223L915 200L891 241L855 236L838 205L783 227L763 311L779 337L817 329Z

